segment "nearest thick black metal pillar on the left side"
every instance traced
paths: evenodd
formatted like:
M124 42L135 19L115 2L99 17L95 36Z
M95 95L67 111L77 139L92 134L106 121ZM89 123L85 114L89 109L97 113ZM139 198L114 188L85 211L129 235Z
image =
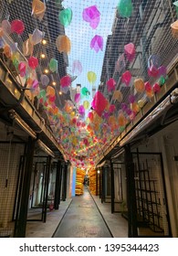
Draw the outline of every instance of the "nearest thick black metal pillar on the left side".
M16 238L25 238L26 237L26 219L27 219L27 209L28 209L28 198L29 198L29 189L30 181L32 176L33 168L33 156L35 149L35 140L31 137L28 138L26 155L25 155L25 169L22 182L21 194L19 195L19 204L18 204L18 214L16 215L16 229L14 237Z

